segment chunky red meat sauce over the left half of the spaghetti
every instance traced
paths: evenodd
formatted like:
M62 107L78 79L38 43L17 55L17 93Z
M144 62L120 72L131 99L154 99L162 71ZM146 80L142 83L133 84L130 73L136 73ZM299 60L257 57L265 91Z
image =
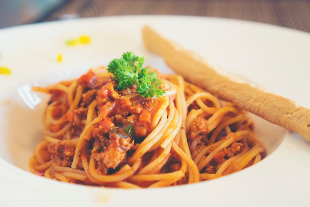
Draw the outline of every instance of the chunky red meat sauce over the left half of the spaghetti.
M88 107L94 100L97 101L96 116L101 119L92 128L91 138L87 142L87 153L94 156L98 171L109 174L126 160L127 153L130 153L136 144L151 133L151 122L159 109L161 98L141 97L137 94L135 85L117 91L112 76L99 78L92 70L82 75L77 82L83 86L84 91L78 108L73 110L71 115L66 111L69 108L67 98L64 97L66 94L50 91L50 103L59 105L54 107L53 117L66 116L67 122L64 124L72 122L71 139L79 138L85 128ZM56 132L61 127L63 125L51 126L51 130ZM51 157L61 166L70 166L76 142L67 140L66 136L58 139L60 141L48 146Z

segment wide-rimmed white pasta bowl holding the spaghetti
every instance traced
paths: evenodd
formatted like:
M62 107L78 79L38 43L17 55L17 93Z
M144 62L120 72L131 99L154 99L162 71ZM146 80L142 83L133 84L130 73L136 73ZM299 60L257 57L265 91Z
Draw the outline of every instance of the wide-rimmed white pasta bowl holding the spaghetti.
M210 64L310 107L310 34L246 21L184 16L120 16L69 20L0 30L0 206L310 206L310 143L263 120L258 132L269 155L241 172L194 185L148 190L86 187L29 173L28 160L41 138L46 97L29 90L106 65L123 52L146 65L171 70L148 52L141 28L155 27ZM89 35L89 45L65 41ZM56 61L57 54L63 62ZM284 138L284 140L283 140ZM283 141L282 141L283 140Z

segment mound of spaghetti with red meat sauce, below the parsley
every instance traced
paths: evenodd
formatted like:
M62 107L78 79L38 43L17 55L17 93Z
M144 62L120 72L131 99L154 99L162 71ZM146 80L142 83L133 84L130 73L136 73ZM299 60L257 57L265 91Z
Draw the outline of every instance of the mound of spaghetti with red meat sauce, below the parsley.
M158 76L165 93L149 98L136 85L116 90L104 67L33 87L51 100L31 172L83 185L164 187L218 178L263 158L246 111L180 75Z

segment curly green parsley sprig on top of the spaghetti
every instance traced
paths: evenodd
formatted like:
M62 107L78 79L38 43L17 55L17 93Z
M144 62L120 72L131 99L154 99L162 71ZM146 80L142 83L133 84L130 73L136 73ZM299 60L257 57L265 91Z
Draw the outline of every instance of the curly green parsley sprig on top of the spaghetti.
M142 67L143 62L143 57L127 52L121 58L112 60L107 71L114 75L118 83L117 90L137 84L137 91L141 96L145 98L161 96L165 92L158 88L160 80L154 70Z

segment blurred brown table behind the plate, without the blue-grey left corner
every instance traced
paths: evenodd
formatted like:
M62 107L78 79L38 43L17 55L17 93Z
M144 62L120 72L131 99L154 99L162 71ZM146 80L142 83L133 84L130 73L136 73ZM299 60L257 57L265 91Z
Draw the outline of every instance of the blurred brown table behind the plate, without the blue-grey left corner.
M65 0L38 22L154 14L242 19L310 32L310 0Z

